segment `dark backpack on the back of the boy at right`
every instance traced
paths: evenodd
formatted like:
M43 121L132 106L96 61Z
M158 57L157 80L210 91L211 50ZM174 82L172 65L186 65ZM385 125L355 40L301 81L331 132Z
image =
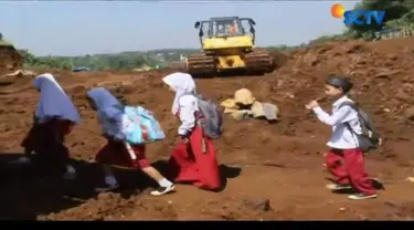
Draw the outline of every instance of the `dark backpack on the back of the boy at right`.
M346 123L346 125L358 137L362 151L368 153L371 149L378 148L382 144L382 139L373 126L371 117L352 102L343 102L339 107L344 105L351 106L358 113L358 119L361 124L362 134L357 134L348 123Z

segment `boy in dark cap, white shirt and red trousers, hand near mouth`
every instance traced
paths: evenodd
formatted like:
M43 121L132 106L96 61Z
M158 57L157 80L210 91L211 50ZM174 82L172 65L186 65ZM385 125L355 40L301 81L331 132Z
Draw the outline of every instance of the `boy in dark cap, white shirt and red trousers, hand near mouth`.
M319 121L332 126L332 136L327 143L331 149L326 155L326 165L336 177L336 184L327 188L333 191L353 188L357 194L348 197L353 200L375 198L376 191L365 172L363 151L354 134L362 132L358 112L350 105L341 105L352 102L347 96L351 88L352 83L347 79L331 76L326 81L326 94L336 100L332 115L327 114L317 101L311 101L306 108L312 109Z

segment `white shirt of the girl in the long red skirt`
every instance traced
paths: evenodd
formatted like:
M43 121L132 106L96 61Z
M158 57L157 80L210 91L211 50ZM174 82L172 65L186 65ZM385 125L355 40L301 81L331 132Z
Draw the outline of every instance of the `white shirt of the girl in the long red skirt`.
M197 98L193 95L183 95L179 100L181 125L178 134L185 136L192 132L195 126L195 112L199 111Z

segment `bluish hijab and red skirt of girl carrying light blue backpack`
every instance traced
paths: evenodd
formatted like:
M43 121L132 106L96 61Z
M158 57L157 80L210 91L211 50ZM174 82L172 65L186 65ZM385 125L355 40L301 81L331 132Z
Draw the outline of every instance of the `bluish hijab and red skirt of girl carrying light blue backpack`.
M121 134L121 115L124 106L107 90L95 88L88 92L97 106L98 121L106 145L97 153L96 161L105 165L123 167L146 168L150 163L146 158L145 145L131 145L135 156L130 156L125 146L125 136Z

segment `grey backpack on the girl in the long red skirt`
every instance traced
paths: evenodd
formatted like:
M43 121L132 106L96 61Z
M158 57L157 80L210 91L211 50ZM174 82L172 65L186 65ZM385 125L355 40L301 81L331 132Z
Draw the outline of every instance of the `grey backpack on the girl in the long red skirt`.
M205 136L215 139L223 133L223 118L220 106L210 100L204 98L201 94L193 95L198 100L199 109L204 119L200 123Z

